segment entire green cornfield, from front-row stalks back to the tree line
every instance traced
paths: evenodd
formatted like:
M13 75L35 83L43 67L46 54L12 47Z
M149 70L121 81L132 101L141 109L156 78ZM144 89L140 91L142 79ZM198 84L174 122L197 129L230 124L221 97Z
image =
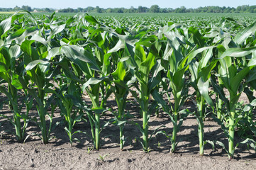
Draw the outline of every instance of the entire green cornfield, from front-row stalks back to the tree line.
M0 21L0 108L6 104L12 114L0 110L0 123L13 125L8 133L17 142L38 136L47 144L52 128L61 128L53 121L58 111L70 145L79 142L74 136L87 135L99 150L101 130L111 124L119 132L109 135L118 135L122 150L124 129L133 125L141 132L136 140L145 152L159 134L169 138L169 148L176 152L177 133L193 115L200 155L204 145L223 147L229 159L238 145L256 150L255 17L19 11L1 14ZM239 101L242 94L247 104ZM126 107L128 96L138 103L136 116ZM108 105L111 97L116 109ZM188 100L194 101L194 110L183 107ZM150 117L159 114L169 117L171 133L149 132ZM106 115L111 118L103 125ZM143 118L141 123L137 117ZM228 145L204 138L206 118L218 123ZM88 124L90 133L74 128L79 122ZM30 123L40 132L29 132Z

